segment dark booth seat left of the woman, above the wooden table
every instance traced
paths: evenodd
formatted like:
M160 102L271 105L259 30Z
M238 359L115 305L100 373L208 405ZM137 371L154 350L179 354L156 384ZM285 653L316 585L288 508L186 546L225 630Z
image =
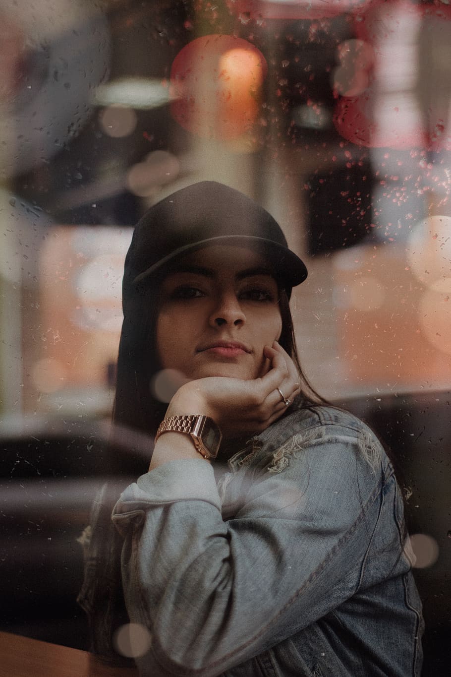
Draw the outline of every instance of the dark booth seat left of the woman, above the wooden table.
M76 602L78 542L105 481L117 495L149 465L149 440L107 424L12 420L0 427L0 630L88 649Z

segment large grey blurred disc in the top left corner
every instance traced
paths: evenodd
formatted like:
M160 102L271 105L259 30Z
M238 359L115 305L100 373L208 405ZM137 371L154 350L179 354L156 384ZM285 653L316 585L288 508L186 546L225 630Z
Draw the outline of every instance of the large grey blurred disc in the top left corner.
M45 166L91 114L110 70L110 27L99 3L2 0L0 176Z

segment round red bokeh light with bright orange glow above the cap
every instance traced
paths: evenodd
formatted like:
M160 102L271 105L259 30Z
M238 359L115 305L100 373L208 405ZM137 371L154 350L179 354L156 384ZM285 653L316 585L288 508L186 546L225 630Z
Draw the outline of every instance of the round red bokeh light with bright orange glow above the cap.
M260 50L241 38L197 38L172 64L172 117L201 137L235 139L256 121L266 70Z

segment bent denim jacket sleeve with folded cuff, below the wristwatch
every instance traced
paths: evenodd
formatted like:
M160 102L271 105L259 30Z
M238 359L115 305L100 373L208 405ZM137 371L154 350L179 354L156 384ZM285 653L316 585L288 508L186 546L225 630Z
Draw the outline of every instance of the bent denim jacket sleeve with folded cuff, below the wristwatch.
M130 620L152 638L141 674L219 675L352 596L382 476L343 434L310 441L279 473L254 474L228 521L200 458L127 487L113 520Z

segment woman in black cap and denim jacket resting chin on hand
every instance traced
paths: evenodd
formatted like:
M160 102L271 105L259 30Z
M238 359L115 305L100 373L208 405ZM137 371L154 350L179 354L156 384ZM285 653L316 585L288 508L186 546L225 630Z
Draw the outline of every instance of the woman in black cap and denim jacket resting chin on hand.
M306 268L279 225L198 183L141 219L125 270L114 420L156 433L112 515L151 634L140 674L419 676L400 489L302 375L288 300ZM183 374L168 404L161 369Z

